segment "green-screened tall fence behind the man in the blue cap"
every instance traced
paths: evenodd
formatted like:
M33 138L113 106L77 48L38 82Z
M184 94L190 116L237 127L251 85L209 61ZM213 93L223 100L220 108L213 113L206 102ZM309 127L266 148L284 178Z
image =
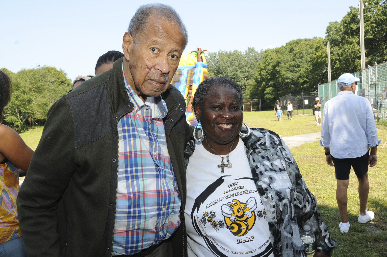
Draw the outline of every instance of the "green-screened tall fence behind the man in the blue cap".
M356 94L367 98L372 106L374 117L387 120L387 62L368 66L367 69L354 72L355 77L360 78ZM319 98L324 104L339 93L337 80L319 85Z

